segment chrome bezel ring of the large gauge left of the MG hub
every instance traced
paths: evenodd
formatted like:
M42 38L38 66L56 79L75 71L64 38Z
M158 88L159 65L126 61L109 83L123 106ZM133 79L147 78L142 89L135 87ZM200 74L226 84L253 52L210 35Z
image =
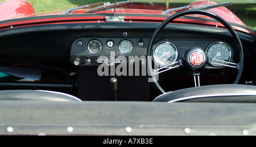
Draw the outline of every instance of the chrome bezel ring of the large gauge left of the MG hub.
M159 63L158 61L155 60L155 57L154 57L155 50L156 50L156 48L157 48L159 45L161 45L161 44L169 44L169 45L171 45L171 46L174 48L174 50L175 50L175 59L174 59L170 64L163 65L163 64L161 64L161 63ZM178 58L179 58L179 50L177 49L177 46L176 46L173 42L171 42L171 41L159 41L159 42L158 42L156 45L154 45L154 47L153 47L153 50L152 50L152 59L153 59L154 62L155 62L158 66L160 66L160 67L172 67L172 66L174 66L173 63L175 63Z

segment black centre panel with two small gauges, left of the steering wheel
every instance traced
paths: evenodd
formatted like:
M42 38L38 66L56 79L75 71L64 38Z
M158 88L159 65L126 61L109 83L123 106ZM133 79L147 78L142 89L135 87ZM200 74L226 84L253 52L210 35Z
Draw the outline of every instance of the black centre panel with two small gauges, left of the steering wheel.
M118 57L125 57L126 60L121 61L120 63L128 63L129 57L134 56L144 56L146 57L147 54L147 44L149 38L77 38L75 41L72 42L71 45L71 63L73 64L75 59L80 60L80 64L78 66L99 66L100 64L106 62L108 57L118 58ZM88 49L88 44L91 41L98 41L102 49L100 53L92 54ZM129 54L122 54L119 50L119 45L122 41L129 41L133 45L132 50ZM113 46L109 47L108 42L112 42ZM82 45L79 45L82 44ZM89 60L89 62L88 62ZM109 61L110 62L110 61ZM109 63L108 63L109 64Z

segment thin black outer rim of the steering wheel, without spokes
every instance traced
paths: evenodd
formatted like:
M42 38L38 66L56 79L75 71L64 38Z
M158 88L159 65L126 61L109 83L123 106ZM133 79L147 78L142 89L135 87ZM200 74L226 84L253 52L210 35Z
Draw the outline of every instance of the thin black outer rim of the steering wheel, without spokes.
M184 15L191 15L191 14L199 14L199 15L205 15L205 16L209 16L210 18L213 18L215 20L217 20L218 22L220 22L222 25L225 26L226 29L228 29L228 31L232 34L234 41L236 42L236 46L238 49L238 54L239 54L239 62L237 63L237 76L236 79L234 80L233 84L238 84L238 81L240 80L240 77L242 75L242 70L243 70L243 48L242 48L242 43L240 38L238 37L237 32L234 30L234 28L232 28L232 26L224 19L222 19L220 16L213 14L212 12L209 11L204 11L204 10L185 10L185 11L181 11L178 12L172 16L170 16L169 18L167 18L166 20L163 21L163 23L161 23L159 25L158 28L156 28L155 32L152 34L150 42L148 44L148 49L147 49L147 60L148 60L148 70L150 71L152 80L154 81L154 83L156 84L156 86L158 87L158 89L162 92L162 93L166 93L165 90L159 85L158 80L155 79L155 75L154 75L154 71L152 69L152 48L154 46L154 42L156 40L156 36L158 36L159 32L161 29L163 29L164 27L166 27L167 24L171 23L171 21L180 18L181 16Z

